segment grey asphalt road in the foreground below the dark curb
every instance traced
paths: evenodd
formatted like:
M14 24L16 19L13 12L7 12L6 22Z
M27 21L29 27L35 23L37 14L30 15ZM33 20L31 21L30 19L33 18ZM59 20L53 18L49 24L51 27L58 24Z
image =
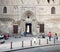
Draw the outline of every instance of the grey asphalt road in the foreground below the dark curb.
M32 48L32 49L12 51L12 52L60 52L60 45L48 46L48 47L38 47L38 48Z

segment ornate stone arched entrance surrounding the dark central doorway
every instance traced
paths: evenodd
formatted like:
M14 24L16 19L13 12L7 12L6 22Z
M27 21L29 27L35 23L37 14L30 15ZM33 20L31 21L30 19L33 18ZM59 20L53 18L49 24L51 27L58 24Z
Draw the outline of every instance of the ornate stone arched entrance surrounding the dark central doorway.
M22 16L21 32L26 32L27 35L33 35L34 32L36 33L37 20L34 11L25 11Z

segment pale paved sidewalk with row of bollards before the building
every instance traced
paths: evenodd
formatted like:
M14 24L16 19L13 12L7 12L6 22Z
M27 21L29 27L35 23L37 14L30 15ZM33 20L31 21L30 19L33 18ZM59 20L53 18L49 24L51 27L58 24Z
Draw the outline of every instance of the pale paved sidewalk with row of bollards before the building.
M40 47L40 46L51 46L55 44L60 45L60 37L57 42L54 42L53 38L51 41L47 41L47 39L48 37L36 38L36 43L34 43L33 37L21 37L21 38L10 37L8 40L5 41L4 44L0 44L0 51L2 52L2 51L27 49L27 48ZM12 47L11 47L11 42L12 42Z

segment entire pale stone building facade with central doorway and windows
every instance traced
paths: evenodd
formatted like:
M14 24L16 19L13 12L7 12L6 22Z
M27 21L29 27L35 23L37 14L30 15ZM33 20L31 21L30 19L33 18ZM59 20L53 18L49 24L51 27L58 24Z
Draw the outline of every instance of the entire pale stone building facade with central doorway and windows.
M60 34L60 0L0 0L0 31Z

